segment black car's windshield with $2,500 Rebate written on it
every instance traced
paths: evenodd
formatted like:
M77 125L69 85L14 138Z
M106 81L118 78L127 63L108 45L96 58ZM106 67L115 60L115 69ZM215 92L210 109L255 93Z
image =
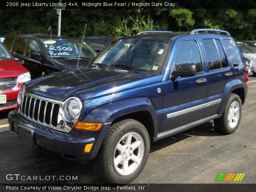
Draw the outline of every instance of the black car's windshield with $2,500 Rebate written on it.
M50 58L78 58L82 43L81 40L68 39L41 39L41 42ZM96 52L83 42L80 57L94 58L96 55Z

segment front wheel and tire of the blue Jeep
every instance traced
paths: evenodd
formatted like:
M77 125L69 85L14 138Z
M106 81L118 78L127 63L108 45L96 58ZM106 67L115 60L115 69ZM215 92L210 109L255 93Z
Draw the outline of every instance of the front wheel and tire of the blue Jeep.
M149 152L150 138L144 125L134 119L122 120L110 126L94 170L108 183L126 184L142 172Z

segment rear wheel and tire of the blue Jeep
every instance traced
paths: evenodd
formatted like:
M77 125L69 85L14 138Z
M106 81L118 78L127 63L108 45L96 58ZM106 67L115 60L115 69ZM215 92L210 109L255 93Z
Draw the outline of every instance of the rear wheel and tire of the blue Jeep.
M224 134L232 134L239 126L242 117L242 102L237 94L230 94L222 116L214 119L216 130Z

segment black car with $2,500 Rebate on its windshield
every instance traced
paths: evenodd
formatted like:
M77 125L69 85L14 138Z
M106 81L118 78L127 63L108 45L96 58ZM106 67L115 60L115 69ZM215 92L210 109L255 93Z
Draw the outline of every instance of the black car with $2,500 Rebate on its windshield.
M6 47L28 69L32 78L88 66L97 53L78 38L43 34L6 37ZM82 46L82 51L80 49ZM78 64L79 60L79 64Z

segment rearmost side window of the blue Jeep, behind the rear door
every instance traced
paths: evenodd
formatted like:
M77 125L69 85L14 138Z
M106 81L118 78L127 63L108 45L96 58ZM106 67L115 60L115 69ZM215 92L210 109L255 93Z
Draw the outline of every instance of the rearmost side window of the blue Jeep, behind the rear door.
M236 46L236 43L232 39L224 39L224 42L227 45L228 53L230 54L229 59L232 63L232 65L235 66L242 66L243 61L242 57L240 55L240 52L238 50L238 47Z

